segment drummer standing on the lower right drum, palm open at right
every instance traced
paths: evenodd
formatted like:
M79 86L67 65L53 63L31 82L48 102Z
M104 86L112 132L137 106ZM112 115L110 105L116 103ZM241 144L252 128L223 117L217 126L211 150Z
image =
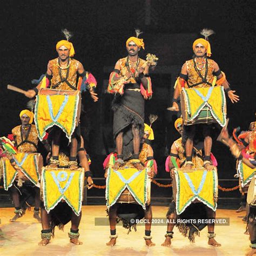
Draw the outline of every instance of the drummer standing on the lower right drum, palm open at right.
M212 30L204 29L201 31L201 35L204 35L206 39L213 33ZM208 59L211 56L210 43L203 38L199 38L193 43L194 58L187 60L182 68L180 75L177 79L176 87L173 95L172 110L179 111L178 97L182 87L185 88L204 88L211 87L215 84L223 85L224 89L230 98L232 103L239 101L239 96L235 95L235 91L230 89L228 82L225 78L225 74L220 71L219 66L214 60ZM217 77L217 81L214 82L214 76ZM184 117L183 117L184 118ZM201 129L201 133L204 137L204 167L207 170L212 169L210 163L210 153L212 148L211 130L212 125L210 124L194 124L184 125L183 137L186 138L185 150L186 150L186 163L185 167L191 169L192 163L192 150L193 140L196 131Z

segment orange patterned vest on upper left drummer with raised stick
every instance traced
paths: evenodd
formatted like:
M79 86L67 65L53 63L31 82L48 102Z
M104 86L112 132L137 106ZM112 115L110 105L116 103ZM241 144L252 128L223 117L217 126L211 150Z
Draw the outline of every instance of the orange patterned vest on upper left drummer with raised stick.
M75 90L77 85L77 70L79 62L76 59L69 59L69 66L65 69L60 68L58 58L49 61L49 67L52 71L51 89ZM71 86L72 87L71 87Z

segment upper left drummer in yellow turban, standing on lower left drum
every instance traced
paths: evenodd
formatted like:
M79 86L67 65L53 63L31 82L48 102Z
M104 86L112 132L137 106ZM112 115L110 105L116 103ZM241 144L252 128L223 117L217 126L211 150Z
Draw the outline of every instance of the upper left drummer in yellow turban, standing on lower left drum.
M65 33L64 33L65 34ZM66 36L66 38L69 38ZM56 51L58 57L49 61L46 71L46 87L50 89L58 90L86 90L89 89L92 99L97 102L98 97L95 93L94 88L97 84L95 78L91 73L84 70L83 65L72 57L75 55L75 49L73 44L67 40L59 41L56 44ZM76 85L77 76L83 79L80 88ZM33 98L38 93L44 79L32 90L26 92L26 96ZM58 167L58 155L59 155L59 144L60 144L60 132L58 127L53 127L51 132L52 138L52 157L50 159L50 167ZM80 126L76 127L75 132L71 138L70 146L70 169L77 169L77 146L80 141Z

